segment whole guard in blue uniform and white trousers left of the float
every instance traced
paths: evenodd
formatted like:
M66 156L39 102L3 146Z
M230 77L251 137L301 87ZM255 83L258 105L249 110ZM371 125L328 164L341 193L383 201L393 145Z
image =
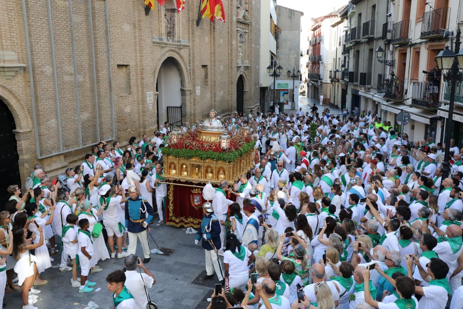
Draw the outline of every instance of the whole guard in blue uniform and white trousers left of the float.
M135 254L138 237L143 248L143 263L146 264L150 262L150 245L146 228L153 219L154 211L144 197L138 196L137 187L129 188L129 196L125 198L125 227L129 234L127 254Z

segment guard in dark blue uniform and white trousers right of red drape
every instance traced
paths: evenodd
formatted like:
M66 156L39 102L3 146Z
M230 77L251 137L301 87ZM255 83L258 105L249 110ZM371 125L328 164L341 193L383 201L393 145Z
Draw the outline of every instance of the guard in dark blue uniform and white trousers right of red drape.
M202 239L201 245L206 254L206 276L204 279L214 277L214 270L221 283L224 282L223 268L220 265L218 250L222 247L220 244L220 223L219 219L214 215L212 204L206 202L203 204L204 218L201 222L200 229L194 240L198 245Z

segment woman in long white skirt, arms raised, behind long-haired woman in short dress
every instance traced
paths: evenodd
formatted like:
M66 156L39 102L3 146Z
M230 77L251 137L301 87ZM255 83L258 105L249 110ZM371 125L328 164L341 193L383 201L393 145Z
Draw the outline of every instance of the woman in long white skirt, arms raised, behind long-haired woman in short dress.
M38 229L38 226L42 227L42 231L43 231L46 225L50 225L53 222L55 205L50 207L51 215L50 215L50 219L48 220L46 218L40 218L40 215L42 215L42 213L38 211L38 206L34 203L26 204L25 211L27 213L27 216L29 217L29 220L33 218L35 219L34 221L35 223L29 225L29 231L35 234L34 243L37 243L39 240L39 236L40 236L40 231ZM47 212L44 212L44 213L47 213ZM48 281L42 280L39 277L39 274L41 272L44 272L47 268L51 267L50 254L48 253L47 244L45 242L41 246L35 249L35 257L37 258L38 274L37 274L37 278L34 284L35 285L46 284L48 283Z

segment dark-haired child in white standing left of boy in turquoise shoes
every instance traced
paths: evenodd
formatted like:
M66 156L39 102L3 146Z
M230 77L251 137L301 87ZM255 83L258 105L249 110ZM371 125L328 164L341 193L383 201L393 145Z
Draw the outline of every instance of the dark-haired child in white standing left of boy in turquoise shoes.
M79 217L77 217L74 213L69 213L66 216L67 224L63 226L61 232L61 239L63 241L63 252L65 255L69 255L72 259L72 286L73 287L80 287L79 281L77 281L77 252L79 251L78 248L78 240L77 240L77 221Z

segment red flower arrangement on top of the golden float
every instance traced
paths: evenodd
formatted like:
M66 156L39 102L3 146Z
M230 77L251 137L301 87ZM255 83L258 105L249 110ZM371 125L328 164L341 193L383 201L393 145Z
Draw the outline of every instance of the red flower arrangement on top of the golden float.
M230 148L222 149L220 142L206 142L198 138L198 132L190 130L181 135L175 142L169 143L167 147L174 149L195 149L203 151L213 151L217 153L229 152L240 149L244 144L251 142L251 135L244 135L242 132L229 132Z

